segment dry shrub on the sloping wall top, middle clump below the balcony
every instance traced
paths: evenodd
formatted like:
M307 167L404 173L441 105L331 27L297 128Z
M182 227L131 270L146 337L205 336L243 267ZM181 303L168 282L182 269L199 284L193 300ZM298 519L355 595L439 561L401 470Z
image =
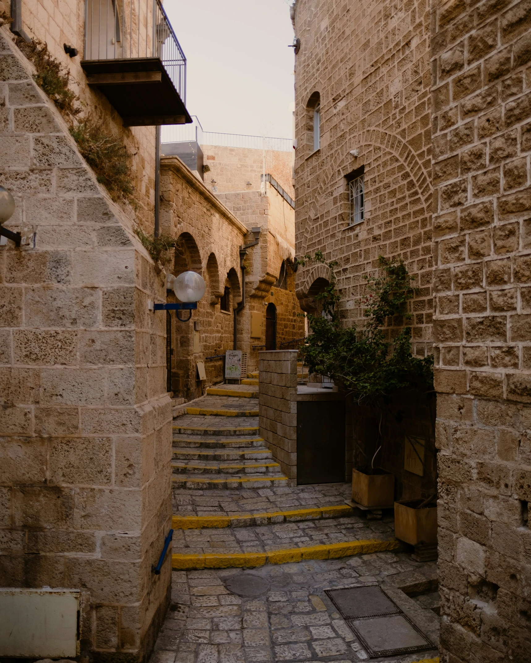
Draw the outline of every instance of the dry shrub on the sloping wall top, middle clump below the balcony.
M131 182L131 154L125 143L104 128L93 115L86 115L70 127L70 133L78 149L96 178L108 190L115 202L128 202L135 207Z

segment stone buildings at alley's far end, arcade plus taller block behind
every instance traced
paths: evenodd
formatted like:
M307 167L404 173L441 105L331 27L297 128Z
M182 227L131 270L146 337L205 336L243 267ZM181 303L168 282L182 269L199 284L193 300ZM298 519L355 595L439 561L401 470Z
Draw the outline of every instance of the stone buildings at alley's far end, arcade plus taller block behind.
M205 140L216 137L204 133ZM228 136L222 137L226 141ZM241 145L254 137L229 138ZM293 149L289 140L266 141L273 149L265 152L258 147L262 139L252 147L197 145L194 151L199 148L208 165L202 174L204 182L199 172L193 175L179 158L171 156L173 152L183 155L185 148L180 146L188 146L188 141L162 144L163 153L169 156L161 159L161 231L180 241L172 272L198 271L208 288L194 314L194 327L177 321L172 327L171 391L177 397L200 396L205 387L222 381L221 355L228 349L242 350L248 371L258 371L258 352L266 343L268 347L289 347L289 341L305 334L293 271ZM286 143L291 152L285 151ZM187 196L181 195L184 189ZM252 229L260 229L256 243ZM246 244L251 246L240 261L240 246ZM235 314L242 302L244 278L246 305ZM197 379L197 361L204 362L206 381Z

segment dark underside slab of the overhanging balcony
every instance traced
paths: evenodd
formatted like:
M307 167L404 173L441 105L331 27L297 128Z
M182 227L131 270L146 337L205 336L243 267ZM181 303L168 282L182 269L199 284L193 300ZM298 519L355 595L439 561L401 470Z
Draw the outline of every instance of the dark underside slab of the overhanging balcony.
M84 60L88 84L112 103L126 127L191 123L159 58Z

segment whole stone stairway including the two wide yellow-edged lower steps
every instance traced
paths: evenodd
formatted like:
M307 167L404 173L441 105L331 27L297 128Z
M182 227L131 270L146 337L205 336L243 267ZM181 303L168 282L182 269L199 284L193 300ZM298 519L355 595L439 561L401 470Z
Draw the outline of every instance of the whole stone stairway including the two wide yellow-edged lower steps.
M282 564L396 550L392 517L367 522L349 483L290 487L260 437L258 373L218 385L173 425L173 568Z

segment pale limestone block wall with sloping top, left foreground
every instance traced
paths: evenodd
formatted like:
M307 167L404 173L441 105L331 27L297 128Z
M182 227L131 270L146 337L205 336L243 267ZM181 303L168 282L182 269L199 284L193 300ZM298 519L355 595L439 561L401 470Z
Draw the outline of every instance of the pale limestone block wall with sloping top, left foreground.
M0 584L82 591L82 652L143 660L169 601L165 284L0 29Z

